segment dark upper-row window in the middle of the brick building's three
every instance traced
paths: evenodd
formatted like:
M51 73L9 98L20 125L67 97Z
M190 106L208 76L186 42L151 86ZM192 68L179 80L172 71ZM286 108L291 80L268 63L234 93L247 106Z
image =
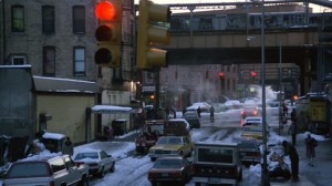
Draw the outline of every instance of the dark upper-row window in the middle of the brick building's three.
M43 33L54 33L54 7L43 6L42 7L42 23L43 23Z

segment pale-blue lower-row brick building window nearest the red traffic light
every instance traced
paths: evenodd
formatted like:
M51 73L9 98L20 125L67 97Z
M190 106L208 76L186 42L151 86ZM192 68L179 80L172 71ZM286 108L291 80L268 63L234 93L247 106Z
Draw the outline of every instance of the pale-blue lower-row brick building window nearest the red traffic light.
M85 48L74 48L74 75L85 75Z

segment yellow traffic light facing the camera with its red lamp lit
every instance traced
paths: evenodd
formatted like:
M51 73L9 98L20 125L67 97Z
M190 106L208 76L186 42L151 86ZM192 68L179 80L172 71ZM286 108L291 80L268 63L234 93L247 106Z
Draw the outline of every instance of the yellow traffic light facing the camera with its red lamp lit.
M98 25L95 31L97 51L94 61L100 66L120 68L122 46L122 1L103 0L95 9Z

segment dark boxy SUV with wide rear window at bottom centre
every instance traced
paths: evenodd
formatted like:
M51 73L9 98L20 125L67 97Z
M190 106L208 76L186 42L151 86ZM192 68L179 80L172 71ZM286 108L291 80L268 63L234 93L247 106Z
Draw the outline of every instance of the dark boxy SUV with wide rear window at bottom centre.
M242 179L242 165L238 144L196 143L193 169L193 179L196 186L238 185Z

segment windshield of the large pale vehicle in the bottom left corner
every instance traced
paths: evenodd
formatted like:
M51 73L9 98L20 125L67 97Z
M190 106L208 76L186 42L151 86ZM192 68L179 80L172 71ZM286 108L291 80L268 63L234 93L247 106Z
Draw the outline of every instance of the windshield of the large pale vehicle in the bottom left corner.
M40 177L50 175L46 163L22 163L11 167L7 178L14 177Z

